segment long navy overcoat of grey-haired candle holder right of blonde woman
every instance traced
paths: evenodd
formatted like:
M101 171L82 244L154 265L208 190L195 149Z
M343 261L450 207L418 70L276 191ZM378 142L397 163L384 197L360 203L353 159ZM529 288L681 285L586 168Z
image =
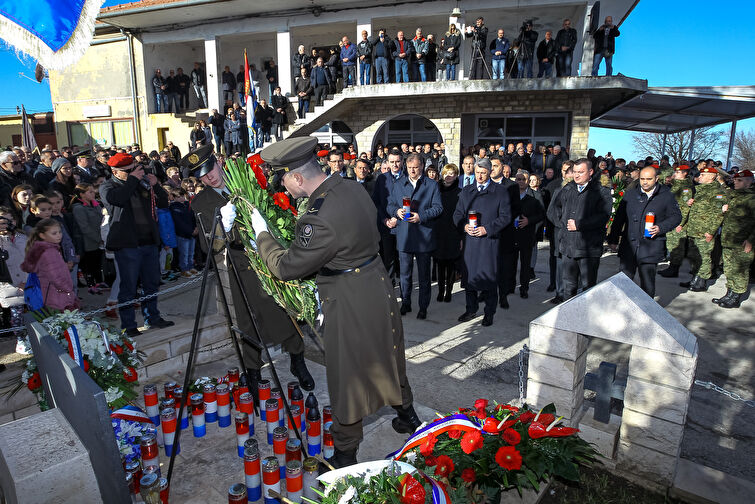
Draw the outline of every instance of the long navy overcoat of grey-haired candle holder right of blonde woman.
M460 231L467 224L470 210L477 212L477 225L483 226L487 234L463 234L462 285L471 290L495 289L500 234L511 222L508 191L495 182L490 182L482 191L477 190L476 183L462 189L454 211L454 224Z

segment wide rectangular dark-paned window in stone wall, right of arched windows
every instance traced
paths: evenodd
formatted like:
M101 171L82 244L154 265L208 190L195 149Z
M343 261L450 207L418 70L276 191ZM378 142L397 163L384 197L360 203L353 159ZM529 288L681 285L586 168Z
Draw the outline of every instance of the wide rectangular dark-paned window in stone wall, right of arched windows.
M568 145L569 131L566 119L566 114L478 115L475 143L532 143L535 150L540 145Z

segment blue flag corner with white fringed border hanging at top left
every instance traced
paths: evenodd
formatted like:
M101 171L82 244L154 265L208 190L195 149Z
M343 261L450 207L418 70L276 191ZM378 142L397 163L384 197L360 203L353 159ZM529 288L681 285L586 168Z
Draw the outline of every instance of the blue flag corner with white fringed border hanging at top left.
M0 0L0 38L39 61L63 70L89 48L103 0Z

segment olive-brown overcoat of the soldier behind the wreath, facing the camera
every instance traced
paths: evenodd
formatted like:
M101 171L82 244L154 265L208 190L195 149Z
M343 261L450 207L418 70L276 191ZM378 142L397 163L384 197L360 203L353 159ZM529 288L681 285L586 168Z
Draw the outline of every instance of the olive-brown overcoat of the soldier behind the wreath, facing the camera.
M212 223L212 216L215 214L215 207L222 207L226 203L228 203L226 197L218 194L218 192L211 187L207 187L198 192L191 200L191 209L196 214L197 220L202 221L205 231L208 233L207 238L209 238L209 233L211 232L210 225ZM218 233L222 233L220 227L218 227L216 231L216 236L222 237L222 235L219 235ZM254 324L252 324L252 319L249 317L246 307L244 306L241 287L238 282L236 282L235 275L230 271L230 261L226 257L226 254L228 253L233 256L233 261L239 268L241 283L243 284L243 288L249 298L249 303L254 310L254 314L257 317L257 322L260 325L262 340L269 345L277 345L283 343L294 335L296 335L296 338L300 338L297 334L296 328L293 326L291 318L286 314L285 310L265 292L259 278L257 277L257 273L249 268L249 258L243 250L236 225L234 225L231 230L230 237L233 240L231 247L223 248L223 242L216 240L213 250L215 251L215 260L218 263L218 269L221 270L219 272L220 282L226 291L226 296L230 295L228 302L232 304L232 306L230 306L230 311L232 318L236 322L236 326L249 335L254 341L258 341ZM202 250L207 253L204 239L200 238L199 245ZM243 348L244 362L247 364L247 367L258 367L259 362L257 362L257 359L259 358L259 352L254 349L253 346L247 344L245 344Z

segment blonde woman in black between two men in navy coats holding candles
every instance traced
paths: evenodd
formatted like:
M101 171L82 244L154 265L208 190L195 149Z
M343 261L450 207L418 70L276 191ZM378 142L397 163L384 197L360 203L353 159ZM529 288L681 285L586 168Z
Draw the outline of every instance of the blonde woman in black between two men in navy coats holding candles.
M440 172L440 201L443 212L435 219L433 230L437 248L433 257L438 261L438 301L451 302L451 291L456 279L455 264L461 256L461 234L454 226L453 214L459 201L459 168L447 164Z

